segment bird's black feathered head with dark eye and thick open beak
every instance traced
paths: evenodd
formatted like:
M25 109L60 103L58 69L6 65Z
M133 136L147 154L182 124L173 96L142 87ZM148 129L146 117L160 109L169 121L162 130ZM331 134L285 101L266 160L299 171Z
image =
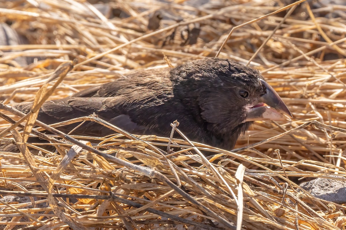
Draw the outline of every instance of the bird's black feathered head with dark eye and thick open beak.
M255 69L221 58L190 61L171 70L174 90L196 119L218 136L246 131L253 121L292 117L275 90ZM200 117L199 117L200 115Z

